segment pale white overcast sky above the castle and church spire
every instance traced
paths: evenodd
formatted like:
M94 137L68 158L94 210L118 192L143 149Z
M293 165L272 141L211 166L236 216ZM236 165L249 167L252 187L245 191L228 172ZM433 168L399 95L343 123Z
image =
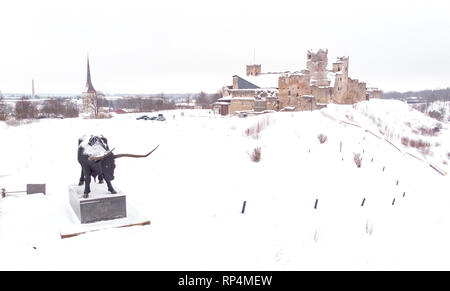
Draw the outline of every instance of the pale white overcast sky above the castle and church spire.
M89 55L105 93L215 92L306 68L308 49L384 91L450 86L448 1L0 1L0 90L81 93Z

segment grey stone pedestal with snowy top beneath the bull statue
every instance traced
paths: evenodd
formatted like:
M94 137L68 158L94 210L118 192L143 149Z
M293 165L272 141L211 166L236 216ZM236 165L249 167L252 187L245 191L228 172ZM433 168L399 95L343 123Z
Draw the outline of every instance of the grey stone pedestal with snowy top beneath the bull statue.
M106 184L91 182L89 198L83 198L84 185L69 186L70 206L81 223L92 223L127 217L126 196L109 193Z

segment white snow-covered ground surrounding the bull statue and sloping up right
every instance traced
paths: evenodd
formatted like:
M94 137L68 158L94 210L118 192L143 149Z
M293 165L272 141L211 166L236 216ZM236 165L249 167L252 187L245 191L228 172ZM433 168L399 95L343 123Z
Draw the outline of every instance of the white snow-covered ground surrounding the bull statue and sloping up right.
M0 199L0 269L450 269L447 123L392 100L248 118L183 112L0 123L0 187L47 184L46 196ZM160 144L118 160L113 181L150 226L61 240L85 134L116 153Z

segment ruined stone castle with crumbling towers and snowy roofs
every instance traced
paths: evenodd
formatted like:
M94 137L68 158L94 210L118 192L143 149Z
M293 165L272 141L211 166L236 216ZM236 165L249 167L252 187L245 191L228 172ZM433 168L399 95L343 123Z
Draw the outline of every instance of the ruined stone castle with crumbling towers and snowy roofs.
M306 69L263 73L261 65L247 65L245 79L233 76L215 107L221 114L316 110L329 103L354 104L380 98L381 91L349 77L349 57L338 57L328 69L328 50L308 51Z

